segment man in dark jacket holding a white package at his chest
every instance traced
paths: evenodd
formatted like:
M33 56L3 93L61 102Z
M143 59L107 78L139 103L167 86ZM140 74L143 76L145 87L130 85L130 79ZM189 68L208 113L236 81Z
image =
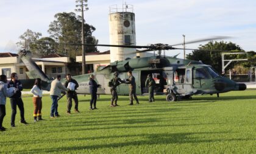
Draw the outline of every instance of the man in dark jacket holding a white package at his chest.
M74 89L72 89L71 91L68 91L66 93L66 99L68 101L68 105L67 105L67 108L68 110L66 110L66 113L70 114L70 110L71 110L71 107L72 107L72 99L74 99L74 103L75 103L75 107L74 107L74 111L76 113L79 113L79 110L78 110L78 98L77 98L77 93L76 93L76 89L79 87L78 83L76 80L72 79L71 75L68 74L66 75L66 82L65 82L65 87L67 88L68 87L68 84L75 84L74 86Z

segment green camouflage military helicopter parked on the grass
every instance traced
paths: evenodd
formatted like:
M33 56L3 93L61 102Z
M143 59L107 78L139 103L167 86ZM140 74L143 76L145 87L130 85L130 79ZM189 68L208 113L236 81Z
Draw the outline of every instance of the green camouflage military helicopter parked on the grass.
M202 40L189 41L189 43L196 43L201 41L217 40L225 37L214 37ZM43 43L43 42L41 42ZM159 82L156 84L155 93L165 94L167 101L177 101L177 97L191 98L197 94L217 94L226 93L228 91L242 91L246 89L246 85L243 83L236 83L233 80L227 79L219 75L215 69L210 65L204 65L201 61L185 60L177 58L177 55L173 57L162 56L162 51L183 49L173 46L182 45L174 44L169 46L168 44L150 44L148 46L130 46L130 45L109 45L109 44L84 44L84 46L112 46L112 47L129 47L143 49L138 52L158 51L158 55L152 57L132 58L123 61L115 61L110 65L101 69L100 71L90 74L76 75L73 79L79 83L77 88L77 94L90 94L89 92L89 79L91 74L95 75L95 80L101 85L98 88L98 94L110 94L110 87L108 82L113 78L115 71L119 72L121 79L127 79L127 71L132 71L133 76L137 83L137 94L147 94L145 87L145 81L148 74L158 76ZM77 45L77 44L75 44ZM80 44L82 45L82 44ZM198 50L198 49L187 49ZM204 50L205 51L205 50ZM44 90L51 88L51 80L44 74L43 71L32 60L32 54L30 51L20 51L19 55L21 60L26 65L29 72L27 75L30 80L21 80L24 88L32 88L34 79L37 77L43 81L42 87ZM65 82L65 79L62 79ZM161 85L165 84L165 85ZM162 88L161 88L162 87ZM117 88L119 95L129 95L129 88L127 84L121 84Z

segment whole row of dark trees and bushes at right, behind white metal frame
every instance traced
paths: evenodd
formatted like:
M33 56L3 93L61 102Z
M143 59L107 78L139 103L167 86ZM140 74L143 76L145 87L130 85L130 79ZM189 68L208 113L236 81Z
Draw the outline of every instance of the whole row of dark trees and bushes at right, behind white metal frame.
M187 54L187 59L196 61L201 60L204 64L213 66L213 68L215 68L219 73L222 72L222 53L245 52L246 54L225 55L225 59L248 59L247 61L232 61L232 63L230 63L230 65L225 69L226 71L233 69L238 74L247 74L249 68L254 66L256 62L256 52L246 52L242 49L242 47L232 42L210 41L207 44L200 45L198 49L200 49L200 51L194 50L190 54Z

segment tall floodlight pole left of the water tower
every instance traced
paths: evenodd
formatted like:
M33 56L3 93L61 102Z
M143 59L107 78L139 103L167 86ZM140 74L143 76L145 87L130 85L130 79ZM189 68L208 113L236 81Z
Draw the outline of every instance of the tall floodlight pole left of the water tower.
M76 7L78 7L79 9L75 9L76 12L82 12L82 74L85 74L85 49L84 49L84 43L85 43L85 39L84 39L84 11L89 10L88 8L88 4L87 0L76 0L76 3L79 3L78 5L76 5ZM84 8L85 7L85 8Z

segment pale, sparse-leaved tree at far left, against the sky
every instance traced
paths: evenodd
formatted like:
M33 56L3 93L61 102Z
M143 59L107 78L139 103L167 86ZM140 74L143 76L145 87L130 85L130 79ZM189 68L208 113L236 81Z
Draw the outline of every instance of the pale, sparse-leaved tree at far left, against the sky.
M21 47L21 49L29 49L30 44L36 41L39 37L41 37L41 33L33 32L30 29L27 29L26 32L23 33L23 35L20 35L20 41L18 41L16 44L18 47Z

